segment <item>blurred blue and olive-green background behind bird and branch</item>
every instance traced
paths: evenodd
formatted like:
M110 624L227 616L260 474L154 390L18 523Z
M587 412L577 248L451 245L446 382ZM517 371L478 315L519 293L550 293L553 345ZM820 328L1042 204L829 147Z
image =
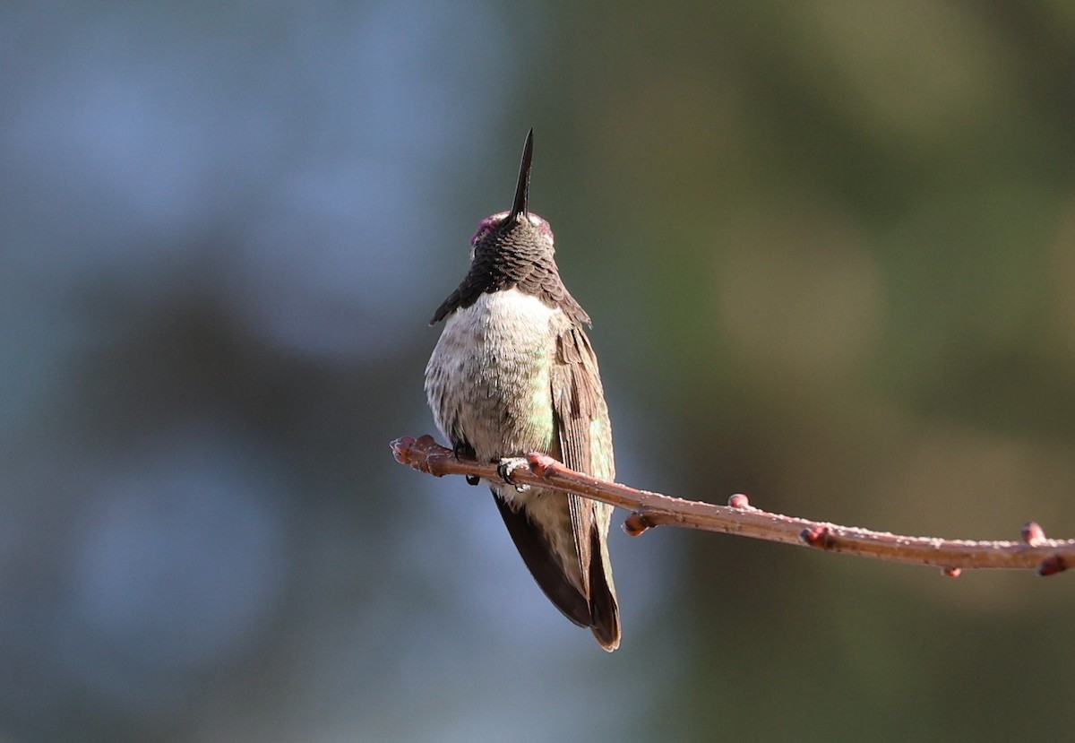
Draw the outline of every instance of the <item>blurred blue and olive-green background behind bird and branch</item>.
M606 655L388 448L532 126L621 482L1075 537L1075 5L16 0L0 100L3 743L1075 728L1071 576L615 529Z

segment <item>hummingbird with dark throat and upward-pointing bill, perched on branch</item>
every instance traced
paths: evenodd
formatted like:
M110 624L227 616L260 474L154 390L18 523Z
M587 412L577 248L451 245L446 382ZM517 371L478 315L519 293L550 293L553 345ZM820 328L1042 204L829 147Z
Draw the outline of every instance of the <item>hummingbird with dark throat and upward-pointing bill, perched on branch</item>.
M584 329L590 317L560 278L553 228L527 209L532 158L533 129L511 211L478 223L470 270L430 322L444 320L444 329L426 367L426 396L456 456L498 465L489 489L545 596L612 652L620 638L608 557L613 508L511 481L530 453L603 480L616 474L608 408Z

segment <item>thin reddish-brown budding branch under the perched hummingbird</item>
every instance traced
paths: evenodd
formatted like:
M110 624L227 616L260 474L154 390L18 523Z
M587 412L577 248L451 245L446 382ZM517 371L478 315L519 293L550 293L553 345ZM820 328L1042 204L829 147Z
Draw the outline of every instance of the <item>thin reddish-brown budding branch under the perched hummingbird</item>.
M396 460L421 472L442 476L462 474L497 480L496 463L457 458L452 449L432 437L402 437L391 443ZM1022 528L1018 542L978 542L934 537L901 537L857 527L837 526L768 513L735 495L729 505L673 498L627 485L610 483L569 470L551 457L531 454L530 468L512 473L512 482L535 485L562 492L575 492L631 512L624 529L631 535L656 526L677 526L703 531L721 531L769 542L812 546L828 552L873 557L894 562L912 562L942 568L956 576L968 569L1036 570L1055 575L1075 567L1075 540L1046 539L1033 521Z

